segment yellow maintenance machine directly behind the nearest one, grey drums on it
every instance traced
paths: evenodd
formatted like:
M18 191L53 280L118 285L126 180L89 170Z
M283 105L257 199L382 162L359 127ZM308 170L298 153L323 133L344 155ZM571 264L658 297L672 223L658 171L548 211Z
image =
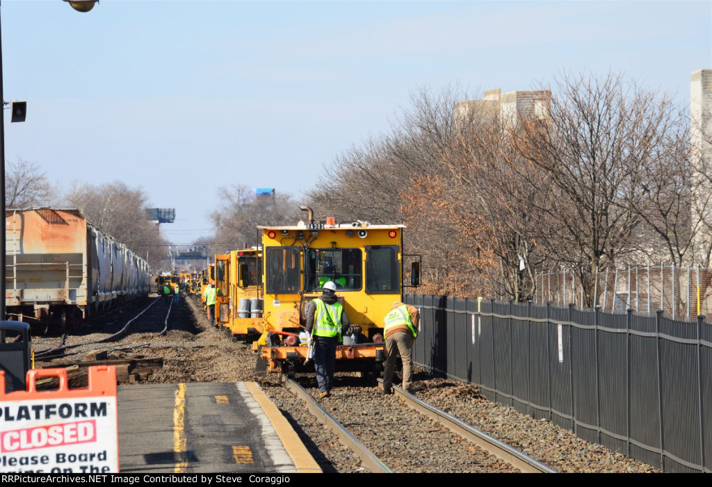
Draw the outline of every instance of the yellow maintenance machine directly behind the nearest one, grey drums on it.
M215 255L215 323L234 341L262 334L262 274L257 248Z

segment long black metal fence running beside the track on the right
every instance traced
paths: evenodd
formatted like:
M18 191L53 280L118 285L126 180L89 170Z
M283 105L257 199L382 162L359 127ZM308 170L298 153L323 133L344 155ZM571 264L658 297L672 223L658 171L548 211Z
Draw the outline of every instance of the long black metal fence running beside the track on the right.
M712 471L712 326L632 310L407 295L414 362L669 472Z

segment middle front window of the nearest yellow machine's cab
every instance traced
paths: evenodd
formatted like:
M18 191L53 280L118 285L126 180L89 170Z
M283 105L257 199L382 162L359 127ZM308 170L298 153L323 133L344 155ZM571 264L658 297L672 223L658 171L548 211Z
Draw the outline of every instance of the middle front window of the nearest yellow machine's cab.
M362 287L360 249L310 249L307 256L307 291L318 291L333 281L337 290Z

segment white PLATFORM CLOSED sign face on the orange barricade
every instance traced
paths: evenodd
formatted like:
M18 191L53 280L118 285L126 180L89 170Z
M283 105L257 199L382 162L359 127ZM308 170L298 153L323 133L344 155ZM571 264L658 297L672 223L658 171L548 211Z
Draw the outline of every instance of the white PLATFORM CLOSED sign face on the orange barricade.
M0 402L1 473L117 473L116 397Z

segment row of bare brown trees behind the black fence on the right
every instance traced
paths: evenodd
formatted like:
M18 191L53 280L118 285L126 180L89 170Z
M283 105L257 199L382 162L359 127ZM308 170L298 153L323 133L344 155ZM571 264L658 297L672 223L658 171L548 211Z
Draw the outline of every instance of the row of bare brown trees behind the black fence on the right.
M567 269L590 306L597 269L709 267L712 172L689 108L614 73L563 73L534 91L548 94L538 116L420 90L388 133L324 166L310 203L405 223L428 294L523 301L535 271Z

